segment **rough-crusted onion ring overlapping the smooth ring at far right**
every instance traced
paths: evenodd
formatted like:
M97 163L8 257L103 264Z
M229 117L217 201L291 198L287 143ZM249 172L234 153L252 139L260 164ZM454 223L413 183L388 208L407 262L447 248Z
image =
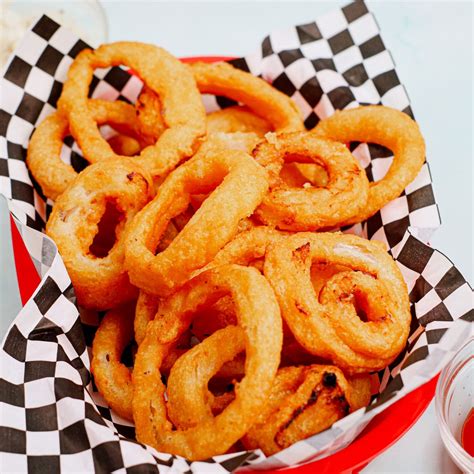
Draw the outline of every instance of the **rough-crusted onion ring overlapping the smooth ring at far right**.
M255 160L270 176L270 191L256 211L265 224L304 231L337 227L357 215L367 202L369 182L364 170L342 144L310 133L268 135L254 150ZM323 188L289 187L279 174L285 161L309 160L325 166Z

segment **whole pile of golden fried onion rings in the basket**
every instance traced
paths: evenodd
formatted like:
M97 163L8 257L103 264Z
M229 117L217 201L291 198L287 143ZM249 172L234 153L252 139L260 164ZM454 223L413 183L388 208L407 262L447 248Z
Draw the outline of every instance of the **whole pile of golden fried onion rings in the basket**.
M134 105L88 98L93 71L116 65L144 81ZM206 117L201 94L239 105ZM60 159L68 134L92 163L81 173ZM379 182L351 141L394 152ZM79 304L108 310L92 373L138 441L272 455L367 406L370 373L405 347L407 288L381 244L321 231L373 215L423 161L418 127L387 107L305 132L291 98L230 64L130 42L81 52L27 163L56 201L47 233Z

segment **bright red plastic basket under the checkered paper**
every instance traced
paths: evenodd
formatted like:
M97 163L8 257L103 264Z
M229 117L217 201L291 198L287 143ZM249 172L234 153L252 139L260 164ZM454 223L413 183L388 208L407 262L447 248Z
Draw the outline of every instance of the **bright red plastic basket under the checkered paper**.
M183 58L183 62L216 62L233 57L202 56ZM22 303L25 304L40 283L39 275L31 261L16 225L11 220L11 232L18 287ZM285 468L267 473L290 471L297 474L357 473L370 461L400 439L424 413L434 397L437 377L414 390L398 402L377 415L364 431L346 448L319 461L294 468Z

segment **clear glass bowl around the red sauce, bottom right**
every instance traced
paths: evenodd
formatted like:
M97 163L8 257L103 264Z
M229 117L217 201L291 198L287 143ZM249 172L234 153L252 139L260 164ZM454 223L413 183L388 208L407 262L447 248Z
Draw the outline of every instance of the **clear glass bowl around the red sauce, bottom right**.
M449 455L463 472L474 472L474 458L461 445L464 422L473 407L474 336L441 372L436 386L438 426Z

